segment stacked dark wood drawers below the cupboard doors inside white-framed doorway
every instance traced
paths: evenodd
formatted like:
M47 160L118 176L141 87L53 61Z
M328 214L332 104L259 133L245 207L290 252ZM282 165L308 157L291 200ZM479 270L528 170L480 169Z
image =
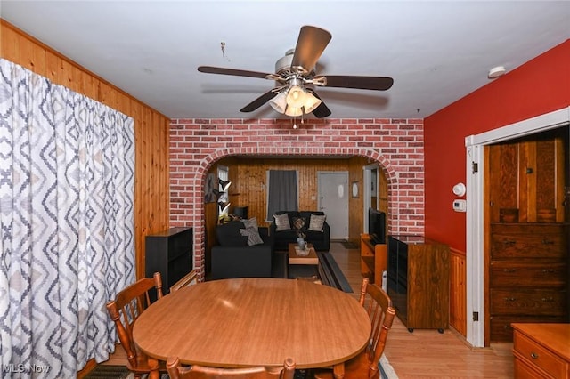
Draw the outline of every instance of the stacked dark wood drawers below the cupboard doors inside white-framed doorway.
M492 223L490 341L512 341L512 322L568 321L568 224Z

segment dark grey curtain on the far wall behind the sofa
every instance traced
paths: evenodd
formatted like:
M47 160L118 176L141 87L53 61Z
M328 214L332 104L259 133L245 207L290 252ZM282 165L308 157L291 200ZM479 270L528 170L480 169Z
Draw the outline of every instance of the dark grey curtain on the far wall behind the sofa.
M297 211L297 171L269 170L267 219L277 211Z

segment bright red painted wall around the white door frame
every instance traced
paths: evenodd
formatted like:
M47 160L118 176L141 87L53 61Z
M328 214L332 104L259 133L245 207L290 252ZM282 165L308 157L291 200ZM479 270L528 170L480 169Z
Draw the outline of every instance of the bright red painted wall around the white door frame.
M466 182L465 137L570 105L570 40L424 120L426 236L466 251L466 214L452 187ZM467 194L468 196L468 194Z

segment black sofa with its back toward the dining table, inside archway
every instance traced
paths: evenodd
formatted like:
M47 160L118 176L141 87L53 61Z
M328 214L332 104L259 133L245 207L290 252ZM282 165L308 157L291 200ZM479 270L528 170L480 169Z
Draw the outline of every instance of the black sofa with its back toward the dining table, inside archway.
M216 246L211 252L211 278L287 278L287 259L274 254L273 236L267 228L258 228L263 244L248 246L248 237L240 234L240 221L216 226Z

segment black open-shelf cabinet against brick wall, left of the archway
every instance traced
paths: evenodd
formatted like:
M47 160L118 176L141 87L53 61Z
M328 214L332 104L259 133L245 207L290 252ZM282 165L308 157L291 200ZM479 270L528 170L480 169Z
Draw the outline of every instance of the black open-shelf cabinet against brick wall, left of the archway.
M159 271L164 294L192 270L192 243L191 228L171 228L146 236L145 275L152 278Z

